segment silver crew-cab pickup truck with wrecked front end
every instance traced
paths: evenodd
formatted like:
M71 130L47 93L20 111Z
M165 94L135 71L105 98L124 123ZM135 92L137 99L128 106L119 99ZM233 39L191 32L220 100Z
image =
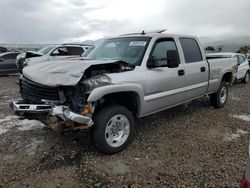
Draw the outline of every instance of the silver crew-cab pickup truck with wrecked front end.
M163 33L108 38L87 59L27 66L23 98L10 104L27 118L46 116L49 127L89 130L94 146L113 154L135 135L135 118L210 96L225 105L236 59L206 60L196 37Z

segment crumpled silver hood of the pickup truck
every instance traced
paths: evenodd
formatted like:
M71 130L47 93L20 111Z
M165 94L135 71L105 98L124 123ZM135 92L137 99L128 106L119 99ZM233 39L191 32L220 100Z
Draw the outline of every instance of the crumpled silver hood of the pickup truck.
M91 65L115 63L117 60L48 61L27 66L23 76L47 86L74 86Z

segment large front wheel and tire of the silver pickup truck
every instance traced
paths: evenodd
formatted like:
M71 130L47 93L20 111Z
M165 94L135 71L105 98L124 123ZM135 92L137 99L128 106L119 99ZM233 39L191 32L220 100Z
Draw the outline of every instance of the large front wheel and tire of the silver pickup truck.
M94 115L91 140L95 148L104 154L122 151L135 134L131 112L119 105L105 107Z

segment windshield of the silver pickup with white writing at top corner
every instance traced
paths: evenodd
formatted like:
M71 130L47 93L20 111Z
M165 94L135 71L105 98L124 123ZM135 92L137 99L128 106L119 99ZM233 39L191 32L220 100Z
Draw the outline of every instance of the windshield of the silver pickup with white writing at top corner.
M122 37L104 40L87 56L94 60L121 60L132 66L140 65L150 37Z

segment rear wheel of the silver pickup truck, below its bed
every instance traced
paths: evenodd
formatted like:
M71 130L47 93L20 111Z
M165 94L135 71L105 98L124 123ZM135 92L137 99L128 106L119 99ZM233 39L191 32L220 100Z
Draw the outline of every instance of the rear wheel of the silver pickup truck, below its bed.
M228 84L222 81L216 93L210 95L210 103L214 108L222 108L225 106L228 98Z

